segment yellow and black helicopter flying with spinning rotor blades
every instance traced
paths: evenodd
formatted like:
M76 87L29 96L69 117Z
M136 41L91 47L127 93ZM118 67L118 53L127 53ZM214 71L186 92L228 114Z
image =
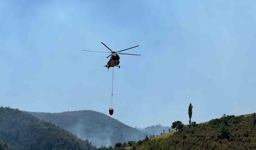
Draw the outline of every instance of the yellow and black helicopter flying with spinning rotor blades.
M103 42L101 42L104 46L106 46ZM136 56L140 56L138 54L126 54L126 53L120 53L122 51L125 51L125 50L129 50L129 49L132 49L132 48L136 48L138 47L139 45L137 46L134 46L134 47L131 47L131 48L126 48L124 50L120 50L120 51L117 51L117 52L114 52L112 51L110 48L108 48L108 46L106 46L106 48L108 48L108 50L110 50L111 52L101 52L101 53L111 53L107 58L110 57L110 60L108 60L108 63L104 66L106 68L110 68L110 67L115 67L117 66L118 68L120 68L120 56L118 54L124 54L124 55L136 55ZM83 51L88 51L88 52L100 52L100 51L92 51L92 50L83 50Z

